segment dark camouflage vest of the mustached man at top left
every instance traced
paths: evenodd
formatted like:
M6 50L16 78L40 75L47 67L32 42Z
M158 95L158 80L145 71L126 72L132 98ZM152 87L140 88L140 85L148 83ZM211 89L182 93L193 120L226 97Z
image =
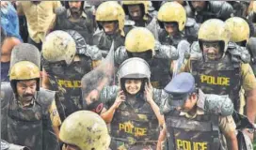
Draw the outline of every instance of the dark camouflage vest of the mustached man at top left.
M81 18L79 22L72 23L68 18L67 11L66 9L56 16L55 30L75 30L86 39L88 44L92 44L92 35L94 32L93 20L90 18Z

